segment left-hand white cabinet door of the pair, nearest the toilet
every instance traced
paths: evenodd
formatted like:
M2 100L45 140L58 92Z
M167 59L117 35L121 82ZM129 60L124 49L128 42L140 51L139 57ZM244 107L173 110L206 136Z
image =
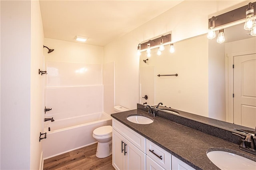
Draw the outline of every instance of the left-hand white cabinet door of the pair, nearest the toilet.
M125 167L124 158L125 138L113 129L112 131L112 165L116 170L123 170Z

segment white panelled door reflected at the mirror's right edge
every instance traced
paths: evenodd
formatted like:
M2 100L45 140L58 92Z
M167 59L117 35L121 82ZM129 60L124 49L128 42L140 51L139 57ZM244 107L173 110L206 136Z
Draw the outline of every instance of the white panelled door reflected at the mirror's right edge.
M256 54L234 56L234 123L256 125Z

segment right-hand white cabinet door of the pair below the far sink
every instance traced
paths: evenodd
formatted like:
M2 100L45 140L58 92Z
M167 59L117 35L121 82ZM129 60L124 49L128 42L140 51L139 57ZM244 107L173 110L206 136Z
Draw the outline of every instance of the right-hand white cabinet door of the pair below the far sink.
M125 141L125 169L146 170L146 154L128 140Z

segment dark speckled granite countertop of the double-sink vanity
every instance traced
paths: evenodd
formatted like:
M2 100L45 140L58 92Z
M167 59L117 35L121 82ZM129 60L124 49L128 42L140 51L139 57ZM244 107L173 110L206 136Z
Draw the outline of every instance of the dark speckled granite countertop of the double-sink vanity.
M128 115L132 114L149 117L154 119L154 122L148 125L132 123L126 119ZM256 162L256 155L240 150L238 144L162 117L151 117L139 109L114 113L111 116L196 170L219 170L206 155L207 152L216 150L216 148L233 152Z

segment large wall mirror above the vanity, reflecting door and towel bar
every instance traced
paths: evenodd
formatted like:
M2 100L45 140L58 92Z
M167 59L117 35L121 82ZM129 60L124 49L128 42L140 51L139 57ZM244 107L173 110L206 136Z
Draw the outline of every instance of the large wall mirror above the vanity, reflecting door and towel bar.
M204 34L174 43L174 53L168 45L161 55L157 49L149 58L143 52L140 103L162 102L180 111L255 128L256 37L248 33L238 24L224 29L222 44Z

